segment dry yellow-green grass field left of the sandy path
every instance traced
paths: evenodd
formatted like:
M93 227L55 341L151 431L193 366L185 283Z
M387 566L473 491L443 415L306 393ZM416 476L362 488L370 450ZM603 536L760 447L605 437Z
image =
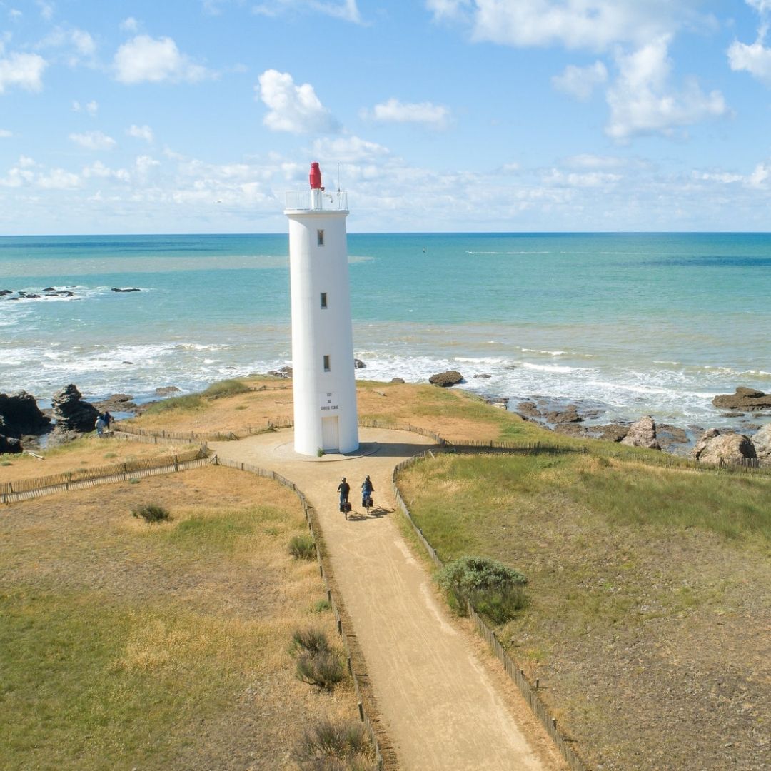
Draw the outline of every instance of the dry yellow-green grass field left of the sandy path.
M173 519L146 524L133 507ZM335 621L296 497L222 467L5 507L4 769L289 769L304 726L356 719L352 686L295 678L296 628Z

